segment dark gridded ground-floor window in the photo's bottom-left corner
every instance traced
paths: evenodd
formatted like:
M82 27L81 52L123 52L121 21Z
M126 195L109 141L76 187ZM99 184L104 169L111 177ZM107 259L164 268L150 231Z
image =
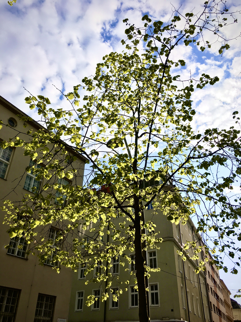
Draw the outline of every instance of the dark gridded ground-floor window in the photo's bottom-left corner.
M19 299L18 289L0 287L0 321L13 322Z

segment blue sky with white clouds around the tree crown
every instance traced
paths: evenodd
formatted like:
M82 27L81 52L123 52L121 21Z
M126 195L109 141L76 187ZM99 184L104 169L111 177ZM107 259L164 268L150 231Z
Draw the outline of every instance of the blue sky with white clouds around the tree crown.
M123 19L142 26L141 18L149 14L153 20L168 22L173 8L199 12L201 0L17 0L11 7L0 3L0 95L38 120L38 115L24 102L32 95L48 97L55 108L65 108L59 90L68 93L86 76L94 74L102 57L125 48L126 25ZM231 11L241 10L239 0L227 0ZM240 34L238 22L226 28L223 35ZM210 36L210 42L214 39ZM196 47L179 46L174 54L186 61L183 75L198 77L200 73L218 76L214 86L196 90L192 95L197 130L233 125L232 113L241 111L241 38L229 42L230 49L222 57L219 43L200 52ZM174 57L175 58L175 57ZM54 86L53 86L54 85ZM26 90L24 90L24 88ZM57 90L58 88L59 90ZM238 187L235 189L238 190ZM221 273L231 293L241 288L238 276ZM241 301L239 301L241 302Z

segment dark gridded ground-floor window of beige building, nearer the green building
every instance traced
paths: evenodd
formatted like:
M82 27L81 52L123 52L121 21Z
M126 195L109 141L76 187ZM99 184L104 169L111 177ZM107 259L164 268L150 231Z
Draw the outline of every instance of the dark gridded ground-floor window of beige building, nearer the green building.
M34 322L52 322L55 296L40 294L38 296Z

